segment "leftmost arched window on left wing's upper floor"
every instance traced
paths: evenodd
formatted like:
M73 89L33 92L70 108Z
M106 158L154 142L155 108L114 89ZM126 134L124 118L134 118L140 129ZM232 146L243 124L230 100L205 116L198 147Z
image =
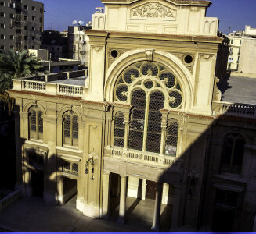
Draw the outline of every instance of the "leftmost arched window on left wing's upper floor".
M30 109L29 113L29 137L34 140L43 140L44 122L41 117L41 112L38 106Z

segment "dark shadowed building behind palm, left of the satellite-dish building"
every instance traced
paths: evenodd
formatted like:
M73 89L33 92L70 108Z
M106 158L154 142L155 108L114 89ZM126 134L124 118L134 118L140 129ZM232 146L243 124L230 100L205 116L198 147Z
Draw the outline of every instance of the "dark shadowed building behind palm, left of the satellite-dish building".
M68 40L63 34L55 30L45 30L42 34L42 48L49 51L51 60L59 61L59 58L68 58Z

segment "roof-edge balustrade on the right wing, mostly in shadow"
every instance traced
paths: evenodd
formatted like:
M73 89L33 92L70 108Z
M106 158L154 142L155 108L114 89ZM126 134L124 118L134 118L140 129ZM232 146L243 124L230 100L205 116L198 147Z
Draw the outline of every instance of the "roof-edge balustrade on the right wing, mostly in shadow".
M241 115L244 117L256 118L256 105L214 101L213 111L222 115Z

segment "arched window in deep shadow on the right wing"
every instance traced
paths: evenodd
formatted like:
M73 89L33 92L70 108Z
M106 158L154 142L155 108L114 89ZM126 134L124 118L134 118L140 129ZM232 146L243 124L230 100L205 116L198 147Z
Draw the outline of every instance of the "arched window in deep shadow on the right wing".
M241 173L244 144L243 137L238 133L232 133L225 137L222 147L220 172Z

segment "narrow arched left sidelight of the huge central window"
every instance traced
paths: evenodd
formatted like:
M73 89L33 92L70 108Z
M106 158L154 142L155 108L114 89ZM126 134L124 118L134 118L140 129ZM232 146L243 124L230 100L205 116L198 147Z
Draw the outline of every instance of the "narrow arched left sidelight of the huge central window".
M124 113L117 112L114 117L114 146L124 147Z

